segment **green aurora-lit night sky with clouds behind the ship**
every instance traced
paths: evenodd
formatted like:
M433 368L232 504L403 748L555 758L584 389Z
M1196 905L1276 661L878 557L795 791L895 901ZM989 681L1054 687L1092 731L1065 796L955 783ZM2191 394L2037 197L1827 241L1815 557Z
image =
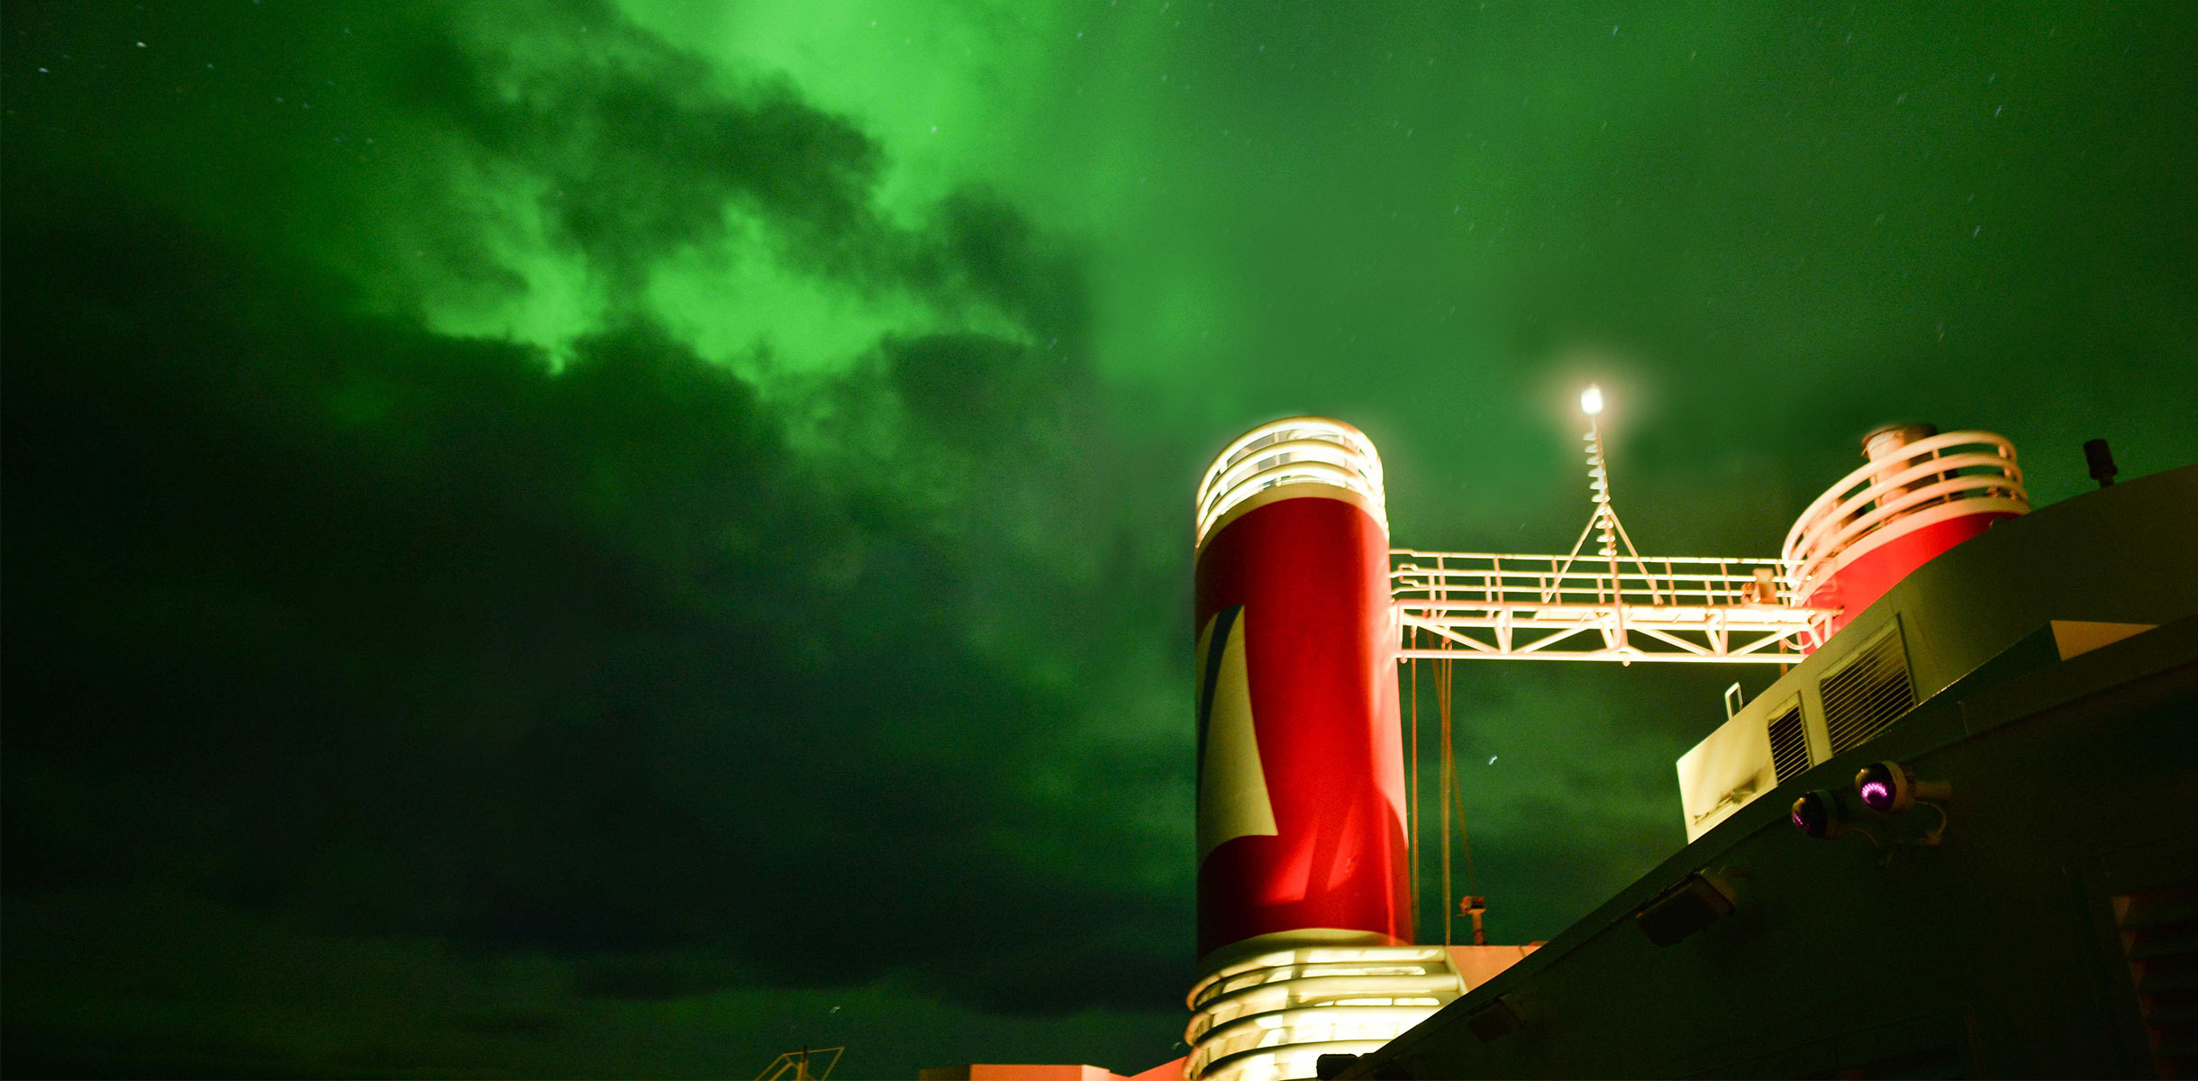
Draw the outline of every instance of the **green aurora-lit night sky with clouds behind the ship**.
M1888 420L2038 503L2198 461L2180 2L0 40L15 1077L1147 1068L1235 433L1350 420L1396 543L1481 551L1576 536L1587 380L1659 554L1776 554ZM1772 675L1462 666L1495 938L1677 850Z

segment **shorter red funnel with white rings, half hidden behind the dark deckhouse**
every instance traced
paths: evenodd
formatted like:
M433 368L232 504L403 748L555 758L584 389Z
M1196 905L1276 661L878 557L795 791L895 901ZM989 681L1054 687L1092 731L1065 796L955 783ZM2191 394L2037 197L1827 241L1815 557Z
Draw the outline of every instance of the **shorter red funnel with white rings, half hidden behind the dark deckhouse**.
M2000 435L1888 424L1862 437L1862 453L1868 464L1809 503L1783 549L1802 604L1846 609L1827 633L1941 551L2031 512L2016 446Z

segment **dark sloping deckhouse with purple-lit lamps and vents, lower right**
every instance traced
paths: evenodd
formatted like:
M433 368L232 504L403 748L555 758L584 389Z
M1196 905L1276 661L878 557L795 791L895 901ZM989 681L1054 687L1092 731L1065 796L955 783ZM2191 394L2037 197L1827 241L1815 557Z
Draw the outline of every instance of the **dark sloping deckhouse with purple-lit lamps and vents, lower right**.
M1681 758L1686 848L1319 1074L2191 1077L2191 536L2198 466L1912 567Z

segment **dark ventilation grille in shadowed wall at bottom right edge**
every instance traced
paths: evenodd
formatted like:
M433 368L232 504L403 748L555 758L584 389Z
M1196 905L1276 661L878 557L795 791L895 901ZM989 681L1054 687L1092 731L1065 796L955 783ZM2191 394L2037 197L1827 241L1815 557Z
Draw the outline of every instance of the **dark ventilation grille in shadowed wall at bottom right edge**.
M2117 896L2114 923L2154 1070L2198 1074L2198 883Z

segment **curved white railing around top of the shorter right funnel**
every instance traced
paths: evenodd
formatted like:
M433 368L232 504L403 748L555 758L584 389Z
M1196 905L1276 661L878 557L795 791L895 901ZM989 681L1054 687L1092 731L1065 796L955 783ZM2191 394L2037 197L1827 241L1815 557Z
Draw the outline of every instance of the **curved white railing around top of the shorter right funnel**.
M1807 598L1838 569L1842 551L1897 519L1956 501L1963 501L1956 512L2027 514L2031 497L2013 444L1989 431L1950 431L1840 477L1787 532L1780 549L1791 567L1787 589Z

